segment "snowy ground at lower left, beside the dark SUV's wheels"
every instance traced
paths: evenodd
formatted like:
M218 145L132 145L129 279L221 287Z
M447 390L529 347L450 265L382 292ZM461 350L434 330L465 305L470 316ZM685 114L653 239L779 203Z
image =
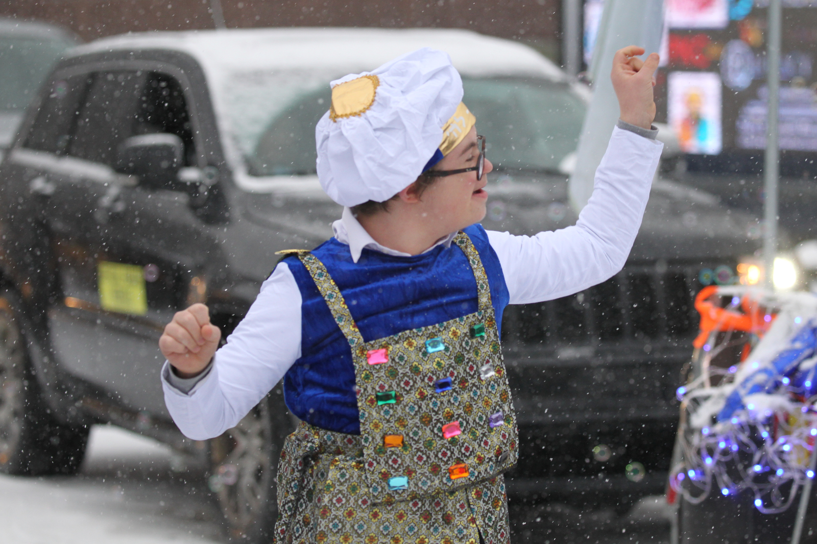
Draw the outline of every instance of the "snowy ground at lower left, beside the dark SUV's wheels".
M77 477L0 475L0 542L213 544L221 514L200 474L171 470L169 448L112 426L92 429Z

